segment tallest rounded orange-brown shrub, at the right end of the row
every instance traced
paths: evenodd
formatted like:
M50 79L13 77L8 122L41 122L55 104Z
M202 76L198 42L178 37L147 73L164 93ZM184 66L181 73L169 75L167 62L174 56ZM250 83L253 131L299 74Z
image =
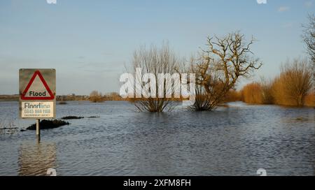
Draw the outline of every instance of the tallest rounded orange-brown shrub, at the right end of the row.
M295 59L281 68L272 84L274 103L279 105L304 105L312 87L312 69L306 59Z

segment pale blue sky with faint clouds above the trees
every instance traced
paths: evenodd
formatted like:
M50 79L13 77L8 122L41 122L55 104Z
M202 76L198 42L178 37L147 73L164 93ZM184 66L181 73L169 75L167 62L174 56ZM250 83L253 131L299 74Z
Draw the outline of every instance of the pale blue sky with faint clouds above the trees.
M271 78L305 55L301 24L314 10L315 0L1 0L0 94L18 94L19 68L56 68L57 94L119 92L140 45L169 41L189 58L207 36L238 30L264 63L251 80Z

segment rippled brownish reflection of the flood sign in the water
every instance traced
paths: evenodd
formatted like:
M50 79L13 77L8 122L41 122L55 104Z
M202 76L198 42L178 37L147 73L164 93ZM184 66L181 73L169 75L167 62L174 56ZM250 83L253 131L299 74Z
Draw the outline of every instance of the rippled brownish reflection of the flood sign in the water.
M56 145L49 142L24 142L19 149L19 175L46 175L56 167Z

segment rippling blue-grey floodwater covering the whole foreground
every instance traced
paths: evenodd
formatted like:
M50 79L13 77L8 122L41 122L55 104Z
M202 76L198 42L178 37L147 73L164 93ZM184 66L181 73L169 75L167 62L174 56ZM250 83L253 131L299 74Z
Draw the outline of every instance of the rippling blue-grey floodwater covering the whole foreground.
M40 143L35 131L0 134L0 175L315 175L313 108L229 105L163 113L118 101L57 105L58 118L85 118L42 130ZM18 102L0 102L2 123L34 123L17 118Z

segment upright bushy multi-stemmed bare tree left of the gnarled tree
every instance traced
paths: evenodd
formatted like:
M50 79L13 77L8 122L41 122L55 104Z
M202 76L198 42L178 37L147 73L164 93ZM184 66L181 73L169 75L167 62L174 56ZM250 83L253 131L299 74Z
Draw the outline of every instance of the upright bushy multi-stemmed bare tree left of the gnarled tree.
M158 83L160 79L158 78L158 75L160 73L173 75L176 73L176 68L178 68L179 65L179 58L176 57L176 54L169 49L169 45L167 43L164 43L160 49L155 47L155 45L151 45L149 49L141 47L139 50L134 52L134 58L132 61L134 73L137 73L137 68L141 68L141 75L152 73L156 85L155 91L151 88L146 89L146 85L151 82L151 79L149 79L148 82L143 82L142 78L136 78L136 83L139 82L140 87L135 85L134 91L146 91L145 94L153 95L145 98L143 96L134 98L132 102L138 110L163 112L164 110L172 110L174 108L172 97L166 96L169 90L174 89L174 85L171 85L170 88L172 89L167 89L165 80L163 80L165 88L159 89ZM160 96L161 94L162 96Z

